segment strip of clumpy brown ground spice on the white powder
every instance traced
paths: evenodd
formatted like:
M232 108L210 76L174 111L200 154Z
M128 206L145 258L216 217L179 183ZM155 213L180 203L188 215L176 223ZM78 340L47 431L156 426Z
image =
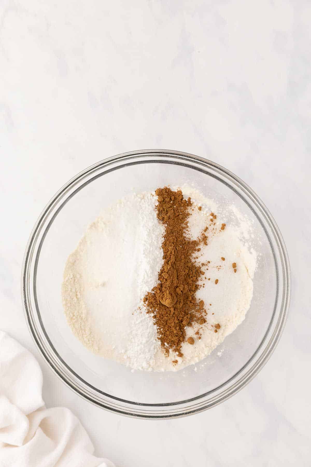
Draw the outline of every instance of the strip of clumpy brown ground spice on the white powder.
M165 226L164 262L159 271L159 283L147 292L144 303L157 325L158 339L165 354L172 350L182 357L186 327L206 321L204 302L195 298L204 271L194 262L193 254L200 242L205 243L207 239L192 240L187 235L191 198L185 199L180 190L172 191L168 187L158 188L155 193L157 217ZM188 342L194 344L194 339L189 339L191 342Z

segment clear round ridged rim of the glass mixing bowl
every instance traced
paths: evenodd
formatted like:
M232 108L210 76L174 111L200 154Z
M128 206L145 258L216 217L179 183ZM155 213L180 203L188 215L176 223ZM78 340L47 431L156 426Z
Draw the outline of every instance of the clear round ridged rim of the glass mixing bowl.
M151 162L150 158L152 157L158 158L159 162L162 158L166 160L172 159L173 163L182 163L183 165L187 162L193 162L199 165L203 169L203 171L206 171L206 169L214 170L221 174L221 176L227 178L231 183L233 182L236 186L242 189L246 197L248 197L253 203L256 204L256 207L259 209L261 215L268 223L270 231L273 234L278 247L279 260L281 261L282 267L283 296L276 327L273 331L273 334L270 337L270 340L267 343L267 345L263 348L263 344L265 344L265 338L267 333L265 334L265 337L263 338L260 346L256 349L256 352L236 375L240 374L242 369L245 369L248 365L250 365L250 363L254 360L254 357L258 354L259 350L262 349L261 354L258 355L258 358L255 362L253 362L252 366L236 381L236 375L229 378L229 380L223 383L221 387L225 386L226 384L228 386L228 382L232 381L233 383L229 385L226 389L224 389L221 393L210 398L206 398L206 396L211 395L211 393L213 393L214 390L220 389L221 387L216 388L200 396L196 396L192 399L164 404L141 404L131 401L125 401L112 395L106 395L102 391L99 391L96 388L93 388L89 385L90 388L97 390L97 394L95 395L94 393L92 393L92 391L85 387L85 385L83 386L83 384L79 384L76 381L76 379L72 377L72 375L68 374L68 372L64 370L64 365L62 365L62 362L58 358L59 356L57 356L55 352L53 352L53 346L52 350L47 347L46 343L41 338L40 332L38 332L37 327L35 325L33 308L35 308L37 305L32 304L30 294L30 266L33 259L36 241L42 228L44 227L49 212L51 212L53 207L55 207L55 205L57 205L57 203L63 198L65 193L70 191L70 189L73 186L80 183L82 180L90 176L90 174L95 173L97 170L104 168L105 166L111 165L112 163L122 162L122 165L119 165L116 168L116 170L118 170L120 167L124 167L124 165L127 165L129 161L139 159L139 161L136 162L138 164L144 162ZM189 167L194 168L191 166ZM244 201L246 201L246 199L244 198ZM72 389L78 395L88 400L89 402L101 408L104 408L105 410L109 410L111 412L125 415L128 417L147 419L178 418L201 412L203 410L207 410L211 407L214 407L215 405L218 405L221 402L224 402L229 397L234 396L238 391L245 387L258 374L258 372L263 368L265 363L269 360L283 333L283 328L286 323L290 305L290 288L290 263L282 235L269 210L263 204L261 199L256 195L256 193L239 177L235 176L232 172L230 172L229 170L225 169L217 163L185 152L161 149L131 151L106 158L102 161L99 161L98 163L91 165L90 167L77 174L71 180L69 180L69 182L65 184L49 201L48 205L46 205L44 210L41 212L41 215L38 218L37 222L35 223L35 226L30 234L28 244L26 247L21 274L21 295L28 329L33 337L33 340L35 341L35 345L38 348L40 354L42 355L43 359L48 363L48 366L54 371L54 373L62 380L62 382L64 382L70 389ZM72 373L76 375L73 371ZM83 381L78 375L76 376L78 377L78 379ZM86 386L88 386L87 383ZM104 399L102 395L106 396L107 398Z

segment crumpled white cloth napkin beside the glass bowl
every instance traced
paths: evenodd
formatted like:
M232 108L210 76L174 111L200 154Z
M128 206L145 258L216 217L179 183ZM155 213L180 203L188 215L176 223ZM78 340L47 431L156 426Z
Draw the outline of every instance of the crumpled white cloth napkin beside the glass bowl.
M0 467L114 467L93 452L69 409L45 408L35 357L0 331Z

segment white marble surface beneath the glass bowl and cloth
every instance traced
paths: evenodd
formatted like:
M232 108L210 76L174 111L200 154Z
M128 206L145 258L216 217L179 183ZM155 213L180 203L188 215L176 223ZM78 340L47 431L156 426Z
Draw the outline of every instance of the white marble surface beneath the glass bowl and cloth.
M48 407L73 410L117 467L311 465L310 22L303 0L0 3L0 327L39 359ZM274 215L292 269L288 322L261 373L171 421L75 395L39 356L21 305L24 248L48 199L91 163L149 148L240 176Z

